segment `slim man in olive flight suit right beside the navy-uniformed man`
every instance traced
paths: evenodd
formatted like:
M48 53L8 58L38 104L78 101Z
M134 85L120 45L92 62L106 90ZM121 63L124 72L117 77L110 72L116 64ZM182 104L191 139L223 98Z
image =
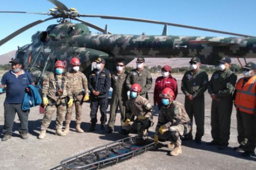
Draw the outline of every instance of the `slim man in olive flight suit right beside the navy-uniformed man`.
M111 75L111 87L113 88L113 93L111 97L110 103L110 118L108 122L108 133L112 133L114 131L114 125L116 120L116 112L118 110L118 106L120 108L121 115L121 132L124 120L125 120L125 102L128 100L127 96L127 88L125 85L127 72L125 72L125 63L123 60L117 61L116 71Z

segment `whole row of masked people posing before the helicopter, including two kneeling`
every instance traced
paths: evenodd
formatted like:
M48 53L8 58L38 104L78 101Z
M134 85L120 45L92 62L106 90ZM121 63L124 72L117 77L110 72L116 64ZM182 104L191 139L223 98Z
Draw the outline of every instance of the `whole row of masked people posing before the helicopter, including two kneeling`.
M197 126L195 142L202 143L204 135L204 92L208 89L211 104L211 136L209 145L218 145L218 149L224 150L228 146L230 135L230 119L232 105L237 109L238 141L237 151L243 151L243 156L254 154L256 145L256 116L255 116L255 81L254 63L247 63L242 67L244 78L237 82L237 76L229 69L231 59L222 57L219 62L219 70L212 74L210 81L205 71L200 69L201 60L193 57L189 64L190 69L182 78L181 90L185 94L185 107L175 99L178 94L178 85L172 77L172 68L165 65L161 69L161 77L156 79L154 89L154 105L148 101L148 90L152 87L152 76L144 68L144 58L138 58L136 68L130 72L125 71L125 62L118 60L116 70L111 74L105 66L103 58L95 60L96 68L92 70L89 79L79 71L80 61L72 58L70 64L72 70L65 72L65 64L62 61L55 63L55 70L48 75L42 83L42 105L45 106L45 114L41 123L39 139L46 137L46 130L50 125L53 114L56 116L56 135L66 136L70 130L73 107L76 111L76 129L82 133L81 116L82 103L90 100L90 132L96 130L97 110L99 108L100 130L105 130L106 109L108 108L108 93L113 88L110 118L107 133L115 131L115 119L118 108L121 115L121 133L137 132L137 143L143 143L143 135L147 129L153 126L153 110L159 110L158 123L154 140L170 141L172 148L170 155L177 156L182 153L181 140L193 140L193 117ZM11 61L12 70L6 72L2 78L2 86L7 86L5 100L5 125L2 141L11 138L12 125L15 113L20 119L20 137L27 139L29 110L20 109L23 99L22 94L28 85L32 84L30 74L22 69L19 59ZM26 80L26 81L25 81ZM237 82L237 85L236 85ZM18 86L19 98L14 88ZM127 92L130 91L130 99ZM25 114L26 113L26 114ZM27 115L24 117L24 115ZM66 127L62 131L62 123L66 116ZM24 117L24 118L23 118ZM131 122L133 122L131 124Z

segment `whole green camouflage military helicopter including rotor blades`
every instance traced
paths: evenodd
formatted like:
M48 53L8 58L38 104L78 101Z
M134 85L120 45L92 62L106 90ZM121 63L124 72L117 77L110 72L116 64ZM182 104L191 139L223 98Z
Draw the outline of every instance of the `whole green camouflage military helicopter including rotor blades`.
M236 34L199 27L179 25L176 23L156 20L129 18L119 16L85 15L79 14L75 8L68 9L57 0L48 0L56 7L47 13L33 13L49 15L44 20L37 20L15 31L0 41L0 45L18 34L38 25L39 23L57 19L56 25L48 26L46 31L37 32L32 36L32 43L19 47L16 56L24 61L25 69L31 71L34 81L37 82L42 74L54 70L57 60L66 63L71 69L69 61L72 57L81 60L80 69L88 74L92 62L102 57L106 60L106 68L113 70L114 61L123 59L125 63L136 57L145 58L182 58L199 57L202 64L216 65L220 57L256 58L256 37ZM23 11L0 11L0 13L31 13ZM100 17L103 19L118 19L128 21L148 22L164 25L160 36L153 35L113 35L92 23L79 17ZM76 20L81 23L72 23ZM167 36L167 26L229 34L237 37L196 37L196 36ZM92 34L88 27L98 30L102 34Z

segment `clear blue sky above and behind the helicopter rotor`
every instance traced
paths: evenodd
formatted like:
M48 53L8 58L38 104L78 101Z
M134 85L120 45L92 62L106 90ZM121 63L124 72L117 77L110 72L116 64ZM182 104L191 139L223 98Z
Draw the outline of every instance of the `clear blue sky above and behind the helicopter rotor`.
M0 2L0 11L48 12L50 8L54 8L54 4L47 0L2 0ZM68 8L76 8L80 14L136 17L256 36L255 0L60 0L60 2ZM0 39L35 20L50 17L48 15L17 13L0 13L0 16ZM80 17L80 19L101 28L107 24L109 32L113 34L161 35L163 31L163 25L153 23L88 17ZM76 23L77 21L73 22ZM34 33L45 31L49 25L56 23L56 19L46 21L19 34L0 46L0 55L17 50L17 46L31 43L31 36ZM93 29L90 30L93 33L98 32ZM168 35L229 36L170 26L168 26Z

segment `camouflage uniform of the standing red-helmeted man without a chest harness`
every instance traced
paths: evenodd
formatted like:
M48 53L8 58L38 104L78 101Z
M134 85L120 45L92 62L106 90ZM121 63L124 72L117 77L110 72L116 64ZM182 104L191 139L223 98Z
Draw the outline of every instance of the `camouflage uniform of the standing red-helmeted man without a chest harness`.
M71 92L74 98L74 104L68 107L66 114L66 124L70 124L73 107L76 109L76 124L81 124L82 119L82 103L83 103L83 89L86 95L89 95L88 81L86 76L80 71L70 71L66 74L69 79Z

